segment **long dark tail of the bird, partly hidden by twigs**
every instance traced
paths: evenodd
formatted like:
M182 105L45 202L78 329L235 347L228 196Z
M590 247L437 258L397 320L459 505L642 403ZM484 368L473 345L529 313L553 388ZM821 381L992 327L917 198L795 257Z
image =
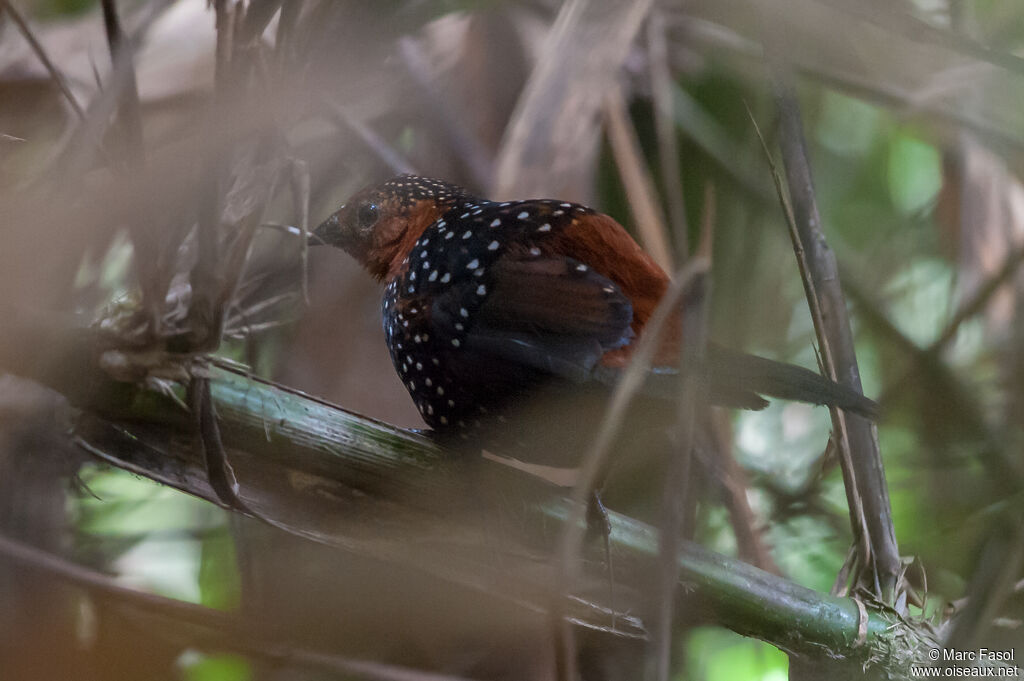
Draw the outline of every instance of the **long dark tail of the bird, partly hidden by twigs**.
M720 345L708 346L706 376L711 401L723 407L760 410L768 406L761 395L768 395L839 407L868 419L877 418L879 413L873 400L820 374ZM609 372L599 378L611 383L617 375ZM674 369L655 369L643 387L645 394L668 399L674 398L678 390L678 372Z

